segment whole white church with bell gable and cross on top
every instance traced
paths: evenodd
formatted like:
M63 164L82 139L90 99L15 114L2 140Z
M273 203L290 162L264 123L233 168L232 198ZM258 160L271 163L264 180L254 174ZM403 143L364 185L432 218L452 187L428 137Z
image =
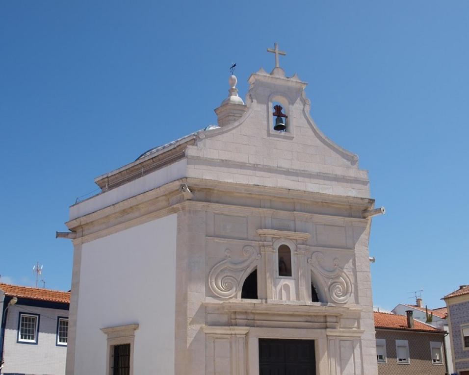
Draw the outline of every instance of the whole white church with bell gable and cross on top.
M269 51L245 102L230 77L218 126L70 207L67 375L377 375L368 239L384 209Z

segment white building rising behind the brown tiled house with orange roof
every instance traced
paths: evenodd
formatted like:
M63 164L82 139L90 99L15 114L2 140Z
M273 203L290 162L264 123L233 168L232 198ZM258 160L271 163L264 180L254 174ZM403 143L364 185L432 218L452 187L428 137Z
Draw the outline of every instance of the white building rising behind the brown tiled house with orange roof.
M423 305L421 298L417 298L415 305L399 303L396 307L394 307L394 309L392 309L392 312L394 314L406 315L406 311L409 310L413 311L415 320L422 323L427 323L438 329L443 329L444 331L449 332L447 319L448 309L446 306L436 309L429 309ZM444 336L444 348L448 374L453 374L453 354L451 351L451 340L449 334Z

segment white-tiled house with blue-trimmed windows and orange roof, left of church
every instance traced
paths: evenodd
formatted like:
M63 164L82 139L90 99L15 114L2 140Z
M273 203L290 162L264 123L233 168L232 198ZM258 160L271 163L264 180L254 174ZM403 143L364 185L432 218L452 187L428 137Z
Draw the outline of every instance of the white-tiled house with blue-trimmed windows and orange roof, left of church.
M0 283L0 373L63 375L70 293Z

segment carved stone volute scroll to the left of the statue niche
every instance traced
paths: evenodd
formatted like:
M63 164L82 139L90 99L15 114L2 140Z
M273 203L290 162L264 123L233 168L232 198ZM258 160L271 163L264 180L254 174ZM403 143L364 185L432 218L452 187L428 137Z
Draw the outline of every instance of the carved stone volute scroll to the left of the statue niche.
M208 274L208 285L216 296L230 298L240 291L241 280L258 263L261 254L252 246L243 248L243 255L247 259L242 261L233 261L229 249L225 250L225 254L226 259L213 266Z

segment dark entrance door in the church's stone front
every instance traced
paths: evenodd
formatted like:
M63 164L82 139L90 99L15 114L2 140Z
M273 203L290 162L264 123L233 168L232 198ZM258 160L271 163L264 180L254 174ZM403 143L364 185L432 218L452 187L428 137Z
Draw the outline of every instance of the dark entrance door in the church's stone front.
M260 375L316 375L314 340L259 339Z

